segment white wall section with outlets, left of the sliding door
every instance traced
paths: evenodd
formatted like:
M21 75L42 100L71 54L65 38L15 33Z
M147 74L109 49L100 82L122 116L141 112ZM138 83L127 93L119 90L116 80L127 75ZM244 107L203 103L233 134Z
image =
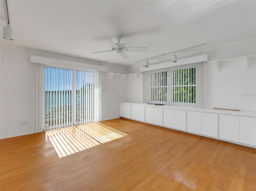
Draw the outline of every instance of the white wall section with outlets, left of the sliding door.
M0 137L34 132L35 69L28 51L1 47ZM28 125L20 126L20 121Z

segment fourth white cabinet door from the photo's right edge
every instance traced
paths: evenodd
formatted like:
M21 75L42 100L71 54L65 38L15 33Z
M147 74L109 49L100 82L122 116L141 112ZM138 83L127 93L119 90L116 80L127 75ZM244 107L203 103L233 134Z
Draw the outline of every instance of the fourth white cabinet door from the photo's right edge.
M187 112L187 131L201 134L201 113Z

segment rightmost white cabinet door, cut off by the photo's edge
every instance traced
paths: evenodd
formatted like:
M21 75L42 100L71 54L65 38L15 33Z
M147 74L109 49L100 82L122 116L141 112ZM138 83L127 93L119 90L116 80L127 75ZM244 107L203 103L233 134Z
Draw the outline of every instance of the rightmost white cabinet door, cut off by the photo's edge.
M256 146L256 118L240 117L240 143Z

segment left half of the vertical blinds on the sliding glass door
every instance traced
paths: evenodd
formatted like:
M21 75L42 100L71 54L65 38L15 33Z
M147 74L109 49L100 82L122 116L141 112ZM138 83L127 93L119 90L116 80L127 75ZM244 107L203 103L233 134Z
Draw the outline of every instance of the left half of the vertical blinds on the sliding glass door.
M72 69L45 67L45 128L72 125Z

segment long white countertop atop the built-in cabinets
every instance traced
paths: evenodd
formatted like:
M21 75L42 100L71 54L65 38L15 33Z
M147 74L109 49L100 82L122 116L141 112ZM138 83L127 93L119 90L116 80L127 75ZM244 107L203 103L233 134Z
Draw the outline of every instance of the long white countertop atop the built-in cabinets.
M213 108L201 108L201 107L192 107L192 106L154 105L154 104L147 104L147 103L141 103L141 102L120 102L120 103L132 104L132 105L143 105L147 107L170 108L170 109L187 110L187 111L210 112L210 113L216 113L216 114L230 114L230 115L238 115L238 116L256 117L256 112L249 112L249 111L219 110L219 109L213 109Z

